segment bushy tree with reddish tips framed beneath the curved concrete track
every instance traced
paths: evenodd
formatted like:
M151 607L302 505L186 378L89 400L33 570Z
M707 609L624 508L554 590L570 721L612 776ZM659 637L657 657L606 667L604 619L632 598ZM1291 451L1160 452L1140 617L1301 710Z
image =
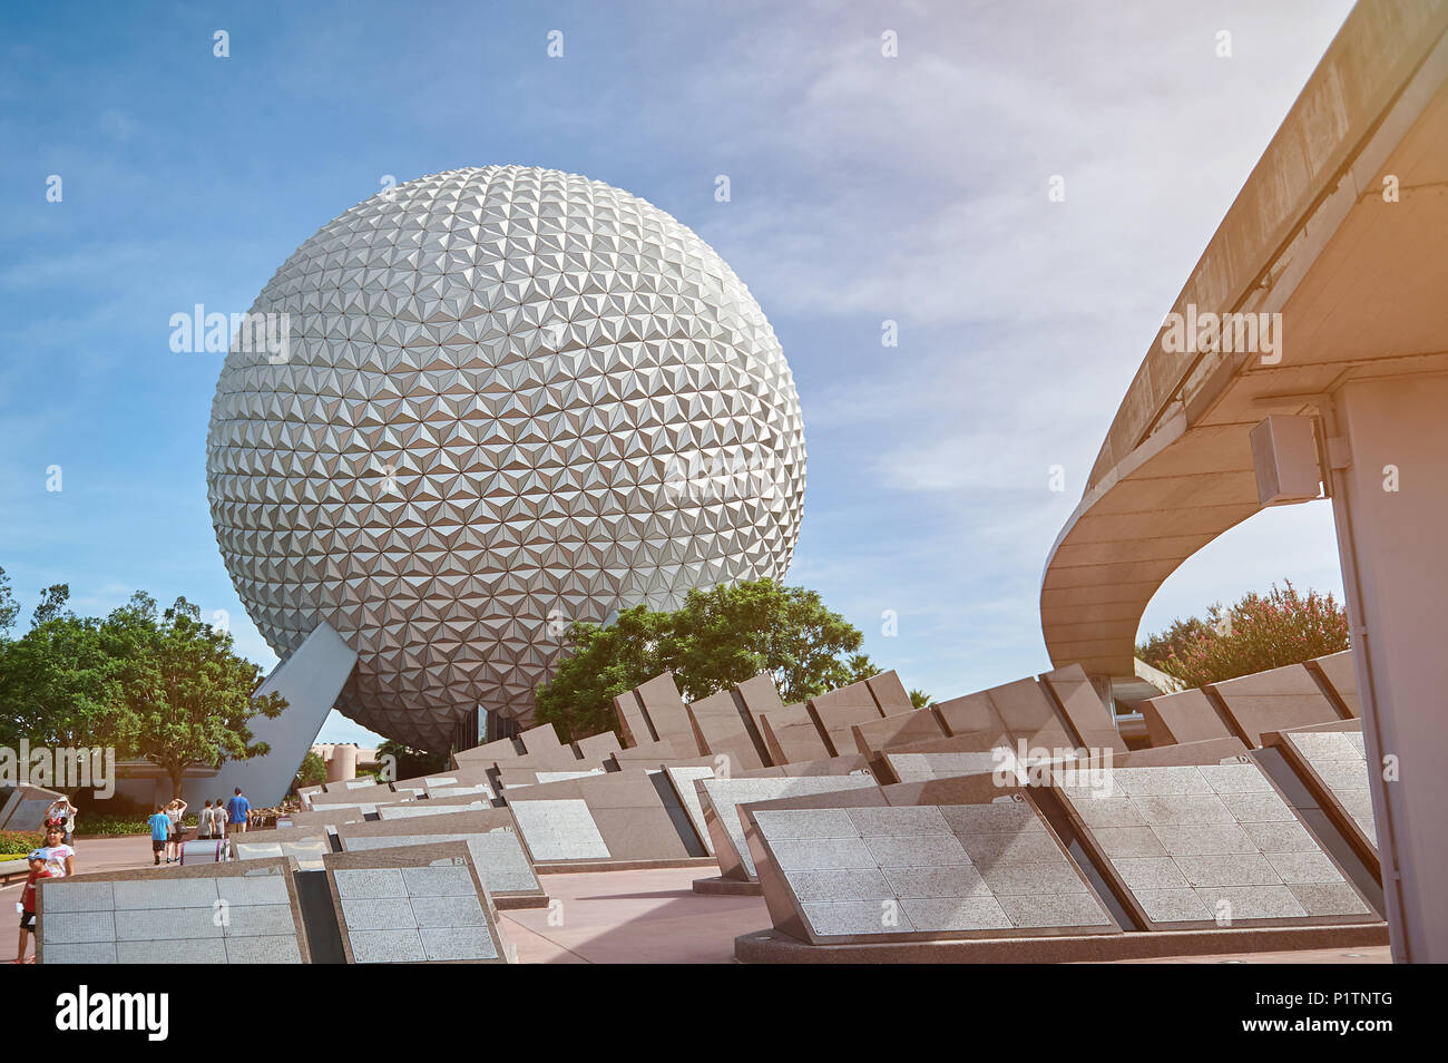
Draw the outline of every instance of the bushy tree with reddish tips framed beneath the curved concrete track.
M1231 608L1216 602L1205 620L1177 620L1137 647L1137 656L1187 686L1300 665L1348 649L1348 615L1331 594L1300 594L1292 581Z

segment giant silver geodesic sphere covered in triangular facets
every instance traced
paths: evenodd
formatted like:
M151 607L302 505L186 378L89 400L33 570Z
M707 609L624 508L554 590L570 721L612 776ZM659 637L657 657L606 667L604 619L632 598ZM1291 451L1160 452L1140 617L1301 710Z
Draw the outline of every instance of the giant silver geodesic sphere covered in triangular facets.
M789 566L789 366L640 198L423 177L323 226L251 313L269 330L233 339L211 406L217 543L278 655L320 621L358 650L337 707L381 734L446 749L475 705L527 715L571 621Z

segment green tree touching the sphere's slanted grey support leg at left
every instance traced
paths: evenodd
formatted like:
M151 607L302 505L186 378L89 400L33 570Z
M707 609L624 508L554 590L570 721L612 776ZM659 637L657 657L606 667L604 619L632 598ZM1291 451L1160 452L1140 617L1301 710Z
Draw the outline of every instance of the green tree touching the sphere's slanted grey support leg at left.
M159 620L155 600L138 594L107 620L123 652L123 695L136 715L136 752L165 770L174 794L195 765L265 756L251 720L275 718L279 694L255 697L261 668L236 655L229 631L201 623L201 610L177 598Z

